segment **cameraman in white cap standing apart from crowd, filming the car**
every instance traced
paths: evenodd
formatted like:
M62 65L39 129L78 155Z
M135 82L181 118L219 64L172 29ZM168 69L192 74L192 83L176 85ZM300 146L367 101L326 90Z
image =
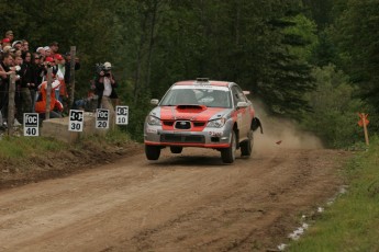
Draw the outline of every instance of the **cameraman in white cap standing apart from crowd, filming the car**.
M112 65L104 62L103 65L97 65L97 77L94 79L96 91L99 96L98 108L102 107L110 111L110 122L113 122L114 108L112 105L112 99L116 98L115 88L118 83L111 71Z

